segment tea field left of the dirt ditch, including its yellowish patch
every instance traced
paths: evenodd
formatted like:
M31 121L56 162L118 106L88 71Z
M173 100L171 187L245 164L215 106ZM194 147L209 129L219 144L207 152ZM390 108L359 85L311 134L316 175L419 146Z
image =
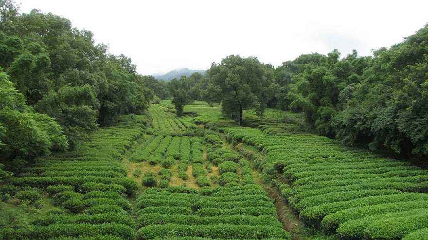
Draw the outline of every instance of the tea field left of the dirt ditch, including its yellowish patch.
M250 162L161 105L0 189L5 240L291 239Z

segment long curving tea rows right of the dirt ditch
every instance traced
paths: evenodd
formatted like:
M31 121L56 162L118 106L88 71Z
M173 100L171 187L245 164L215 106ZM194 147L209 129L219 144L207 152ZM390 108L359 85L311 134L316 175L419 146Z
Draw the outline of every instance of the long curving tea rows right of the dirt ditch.
M275 136L266 131L269 125L223 123L212 120L206 127L265 152L266 160L254 159L254 165L307 225L341 239L373 240L401 239L428 227L428 170L318 135Z

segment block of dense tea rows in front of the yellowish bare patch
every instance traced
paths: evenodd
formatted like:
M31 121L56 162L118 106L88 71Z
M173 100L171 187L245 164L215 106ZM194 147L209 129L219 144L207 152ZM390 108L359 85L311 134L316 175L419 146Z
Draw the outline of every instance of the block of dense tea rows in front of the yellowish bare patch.
M290 239L276 219L272 200L257 185L149 189L139 198L141 240L175 237L207 239Z

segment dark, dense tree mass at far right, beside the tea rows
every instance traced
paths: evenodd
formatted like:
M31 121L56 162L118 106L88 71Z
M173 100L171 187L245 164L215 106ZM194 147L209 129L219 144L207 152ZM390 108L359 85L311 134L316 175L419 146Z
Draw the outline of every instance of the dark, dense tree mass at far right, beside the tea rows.
M344 95L337 138L394 154L428 153L428 25L402 43L375 51L364 80Z

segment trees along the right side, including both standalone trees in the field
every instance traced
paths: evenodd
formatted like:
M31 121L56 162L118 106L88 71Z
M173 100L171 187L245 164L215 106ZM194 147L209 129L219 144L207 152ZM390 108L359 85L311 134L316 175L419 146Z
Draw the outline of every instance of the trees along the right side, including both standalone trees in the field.
M243 110L302 112L309 131L346 145L428 156L428 25L373 56L354 50L341 57L334 50L300 55L275 68L256 57L230 55L213 63L199 83L189 78L171 83L179 113L196 99L188 90L198 86L197 97L221 103L223 114L239 124Z

